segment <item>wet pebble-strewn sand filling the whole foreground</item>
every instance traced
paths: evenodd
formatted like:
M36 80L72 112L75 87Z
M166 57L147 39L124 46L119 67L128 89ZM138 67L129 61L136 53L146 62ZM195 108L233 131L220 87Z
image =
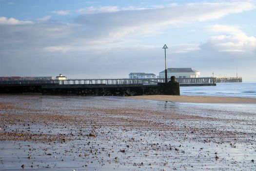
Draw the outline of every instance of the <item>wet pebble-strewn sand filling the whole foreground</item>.
M255 125L232 106L0 96L0 170L254 170Z

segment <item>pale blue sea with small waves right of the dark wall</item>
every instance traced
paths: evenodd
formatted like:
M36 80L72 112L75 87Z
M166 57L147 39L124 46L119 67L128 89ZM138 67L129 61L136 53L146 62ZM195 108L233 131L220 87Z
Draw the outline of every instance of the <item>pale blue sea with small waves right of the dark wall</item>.
M256 82L217 83L216 86L181 86L180 95L256 98Z

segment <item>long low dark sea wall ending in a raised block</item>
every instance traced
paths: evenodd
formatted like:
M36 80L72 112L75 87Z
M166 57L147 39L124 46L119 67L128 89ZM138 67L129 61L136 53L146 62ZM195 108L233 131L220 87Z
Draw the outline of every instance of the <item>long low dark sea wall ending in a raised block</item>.
M178 83L158 85L0 85L2 94L42 94L42 95L179 95Z

